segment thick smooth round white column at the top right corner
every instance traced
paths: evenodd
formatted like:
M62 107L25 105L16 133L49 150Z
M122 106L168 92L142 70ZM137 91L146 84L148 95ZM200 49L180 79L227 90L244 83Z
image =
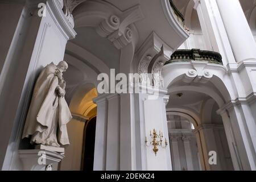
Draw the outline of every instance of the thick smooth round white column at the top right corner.
M236 61L256 60L256 43L238 0L216 0Z

